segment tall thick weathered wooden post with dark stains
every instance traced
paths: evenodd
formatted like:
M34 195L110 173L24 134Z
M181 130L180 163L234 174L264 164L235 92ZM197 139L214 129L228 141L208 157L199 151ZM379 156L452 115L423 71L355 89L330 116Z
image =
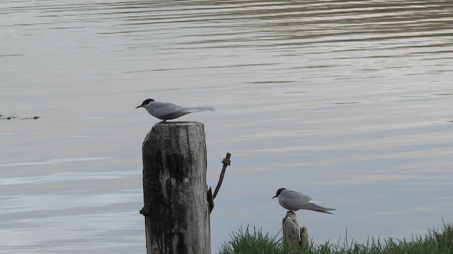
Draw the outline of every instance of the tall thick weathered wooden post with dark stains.
M147 254L210 253L203 124L157 123L142 152Z

